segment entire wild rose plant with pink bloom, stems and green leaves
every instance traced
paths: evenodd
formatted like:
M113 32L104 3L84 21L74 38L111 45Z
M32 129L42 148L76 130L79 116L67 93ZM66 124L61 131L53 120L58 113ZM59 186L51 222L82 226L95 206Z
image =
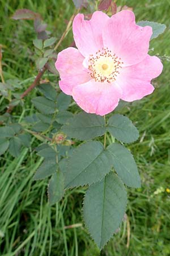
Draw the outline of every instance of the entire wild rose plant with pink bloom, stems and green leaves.
M17 94L20 82L15 81L12 88L10 80L3 81L0 69L1 94L9 101L6 113L1 115L0 153L8 150L18 156L23 146L29 147L31 136L36 137L40 141L37 155L44 161L34 179L50 177L50 205L61 200L68 188L87 187L83 220L100 249L124 219L127 187L141 186L133 155L124 146L136 141L139 133L116 108L124 101L140 100L154 92L151 80L160 75L163 65L158 57L148 54L149 42L165 30L164 24L135 23L132 11L116 13L115 3L114 10L111 4L101 1L100 11L94 11L88 20L80 9L75 11L57 44L56 38L49 38L39 14L17 10L14 19L34 20L37 39L33 44L39 73L25 92ZM75 1L75 5L87 7L88 3ZM111 16L104 13L109 7ZM86 13L86 9L83 11ZM72 23L76 47L58 52ZM50 81L40 82L46 70L57 77L59 87ZM35 86L41 94L32 98L37 112L25 117L23 123L16 123L12 110L16 105L23 106L23 98ZM80 108L72 113L69 106L74 102ZM113 143L108 143L107 136Z

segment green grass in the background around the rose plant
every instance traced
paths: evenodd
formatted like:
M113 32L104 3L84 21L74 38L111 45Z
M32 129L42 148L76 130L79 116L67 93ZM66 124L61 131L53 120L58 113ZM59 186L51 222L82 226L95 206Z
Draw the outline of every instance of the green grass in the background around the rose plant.
M137 20L153 20L167 25L166 32L151 42L154 51L170 55L169 0L117 1L118 5L134 7ZM61 36L65 19L74 11L71 1L1 0L0 44L5 44L3 70L5 79L17 77L27 88L36 75L33 64L32 39L35 34L31 21L9 19L18 8L41 13L53 35ZM69 42L68 42L69 41ZM71 42L65 40L61 46ZM157 79L155 92L123 110L140 131L138 142L130 146L142 177L141 189L129 189L128 218L121 231L99 252L82 224L81 208L84 189L67 191L61 203L49 207L45 181L32 181L41 159L33 149L24 149L16 159L8 154L1 157L0 176L0 254L3 256L146 256L170 255L170 90L169 63ZM46 77L45 75L44 77ZM23 88L23 90L24 90ZM14 111L16 118L32 112L31 98L25 99L24 113ZM5 102L1 102L3 111Z

